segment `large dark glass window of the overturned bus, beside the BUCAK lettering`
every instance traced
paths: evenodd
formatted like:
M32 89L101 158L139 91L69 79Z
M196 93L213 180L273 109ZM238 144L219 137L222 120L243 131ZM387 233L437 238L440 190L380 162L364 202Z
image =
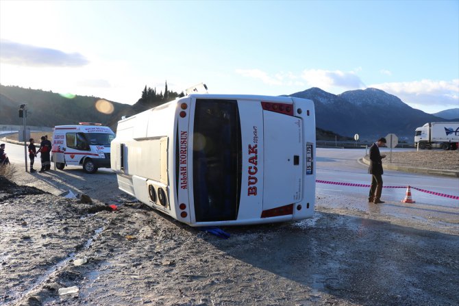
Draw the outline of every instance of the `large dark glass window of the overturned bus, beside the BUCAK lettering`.
M197 99L193 181L197 222L236 220L242 151L235 100Z

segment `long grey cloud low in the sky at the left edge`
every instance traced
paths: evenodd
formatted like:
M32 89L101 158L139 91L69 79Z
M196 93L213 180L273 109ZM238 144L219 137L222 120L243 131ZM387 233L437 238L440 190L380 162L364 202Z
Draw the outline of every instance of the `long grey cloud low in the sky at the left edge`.
M65 53L60 50L0 40L0 60L4 64L37 67L79 67L89 61L79 53Z

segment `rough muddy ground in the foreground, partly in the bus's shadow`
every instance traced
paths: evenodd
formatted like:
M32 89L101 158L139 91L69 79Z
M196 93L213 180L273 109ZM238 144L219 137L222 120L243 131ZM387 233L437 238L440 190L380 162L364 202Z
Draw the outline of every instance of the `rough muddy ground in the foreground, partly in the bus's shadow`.
M459 222L389 220L317 194L310 220L222 239L138 203L108 171L13 181L0 178L0 305L458 305Z

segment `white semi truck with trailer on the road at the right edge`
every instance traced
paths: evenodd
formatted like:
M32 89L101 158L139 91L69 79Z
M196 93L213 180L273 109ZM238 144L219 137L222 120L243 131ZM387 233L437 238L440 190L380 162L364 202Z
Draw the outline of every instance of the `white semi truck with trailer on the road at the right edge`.
M414 135L414 144L419 146L419 149L456 150L458 142L459 122L425 123L416 129Z

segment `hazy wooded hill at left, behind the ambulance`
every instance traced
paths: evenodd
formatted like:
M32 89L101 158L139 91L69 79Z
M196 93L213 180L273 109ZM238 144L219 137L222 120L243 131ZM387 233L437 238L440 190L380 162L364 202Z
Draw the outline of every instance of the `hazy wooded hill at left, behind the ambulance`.
M113 112L103 114L96 108L98 97L75 96L71 99L54 92L0 85L0 123L3 125L22 125L18 117L19 105L27 104L27 125L54 127L72 125L79 122L108 124L111 118L121 118L120 112L131 105L108 101Z

